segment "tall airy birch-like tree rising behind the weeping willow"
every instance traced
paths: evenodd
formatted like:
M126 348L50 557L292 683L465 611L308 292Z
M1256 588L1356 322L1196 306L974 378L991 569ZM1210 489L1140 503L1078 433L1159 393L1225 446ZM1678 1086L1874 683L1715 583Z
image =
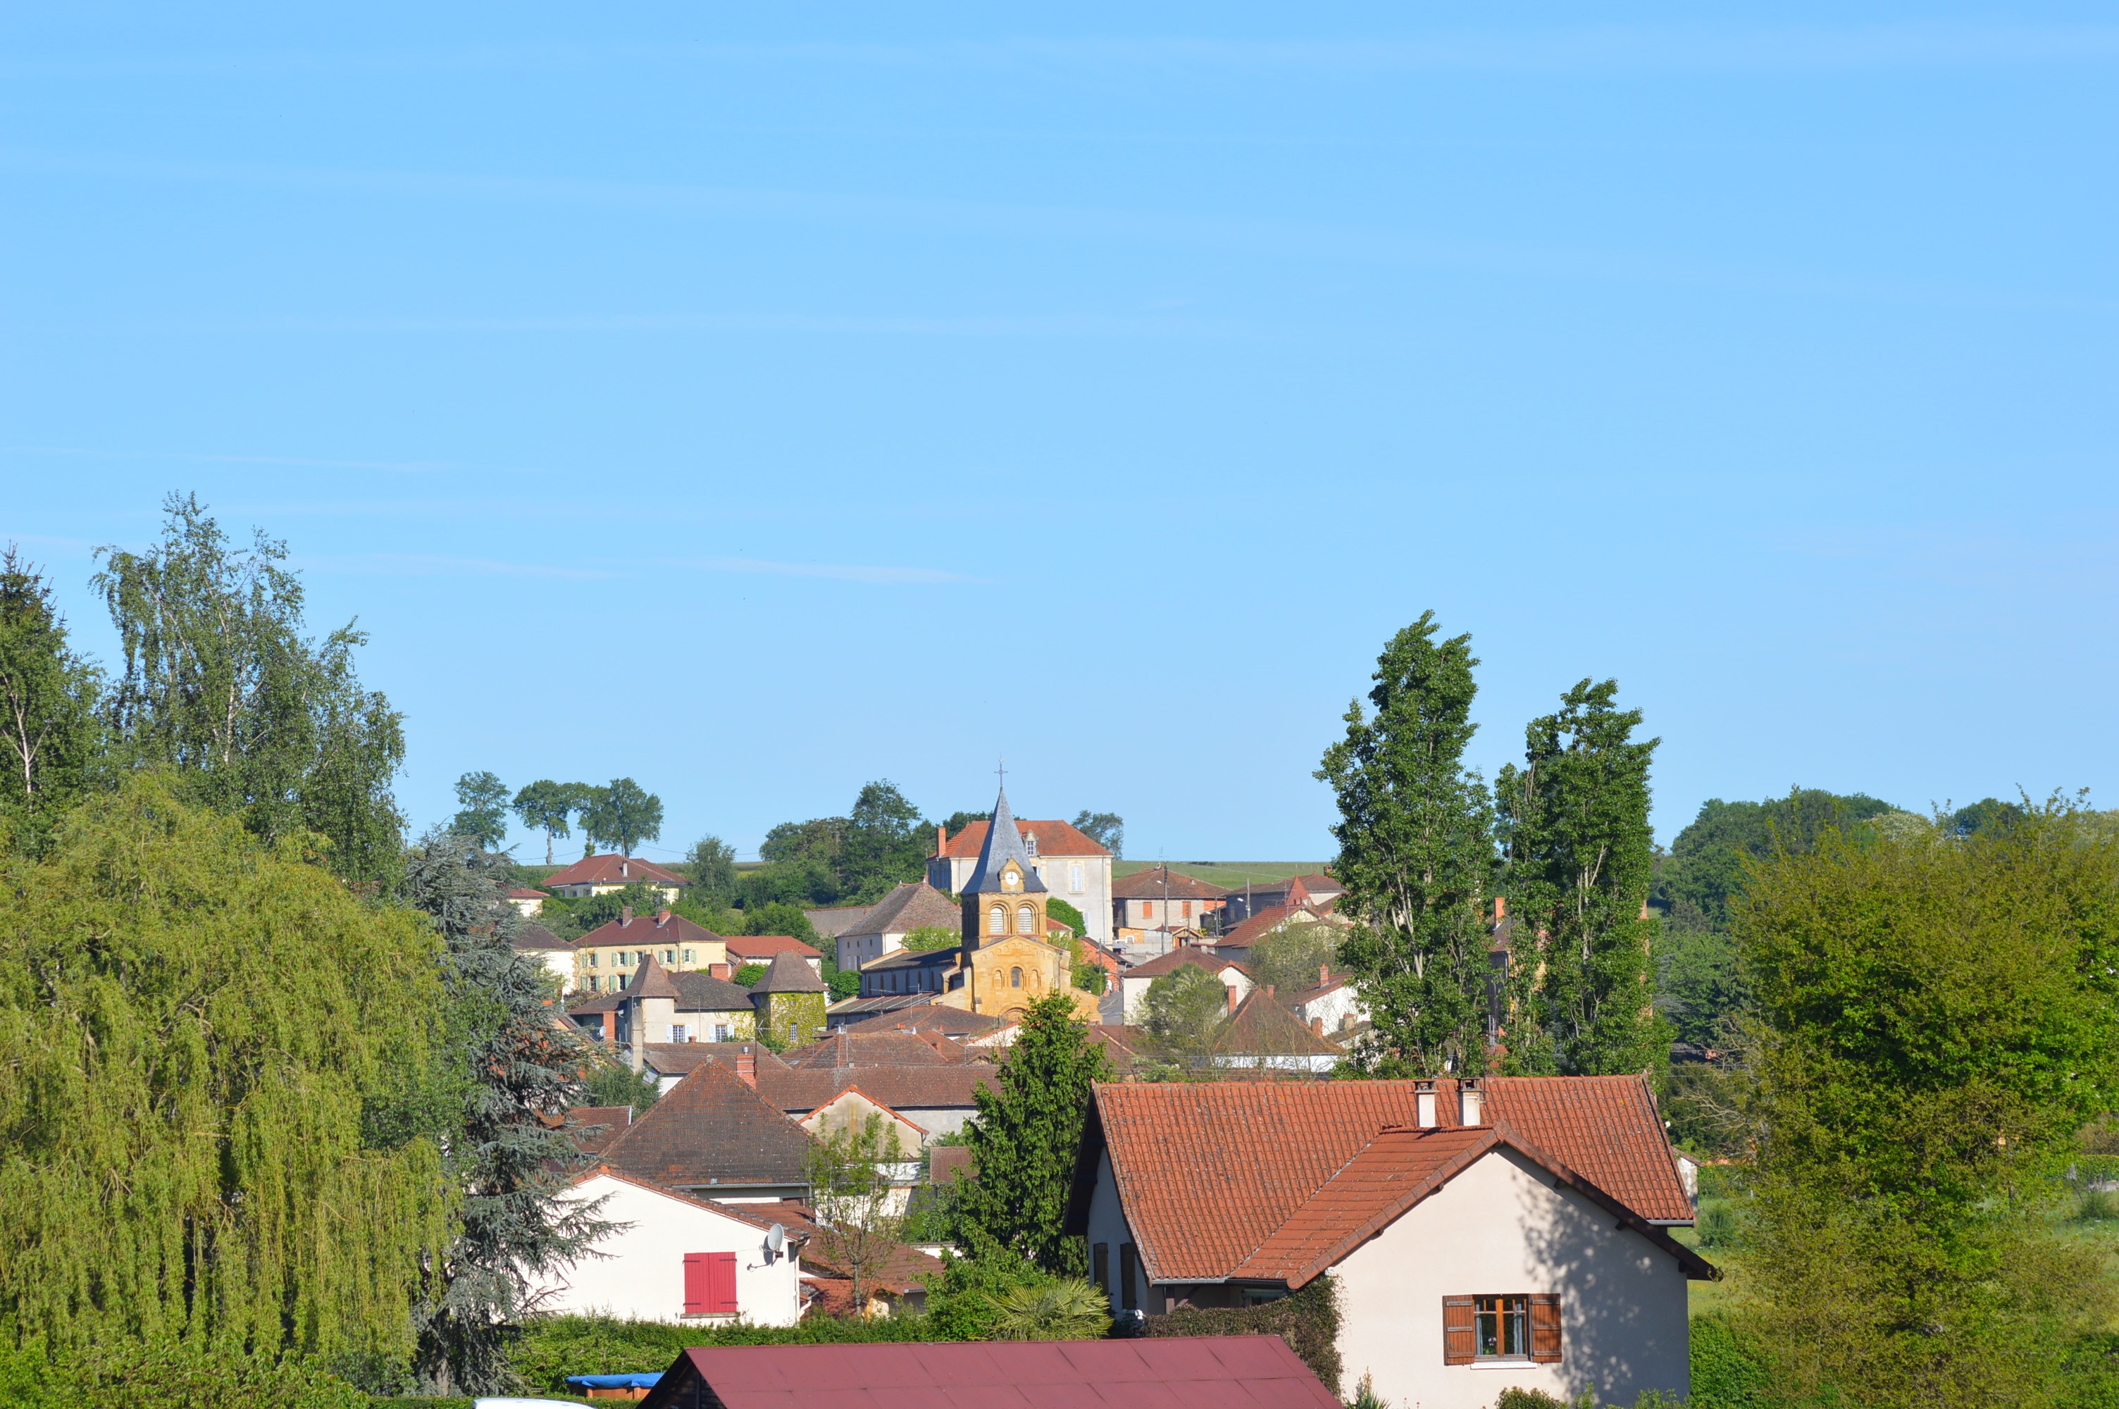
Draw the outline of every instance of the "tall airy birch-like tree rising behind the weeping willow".
M161 542L97 549L125 676L108 718L123 756L167 767L189 801L239 816L265 841L318 833L331 869L381 886L405 848L390 780L403 716L360 689L350 623L303 636L286 545L231 549L197 498L170 496Z

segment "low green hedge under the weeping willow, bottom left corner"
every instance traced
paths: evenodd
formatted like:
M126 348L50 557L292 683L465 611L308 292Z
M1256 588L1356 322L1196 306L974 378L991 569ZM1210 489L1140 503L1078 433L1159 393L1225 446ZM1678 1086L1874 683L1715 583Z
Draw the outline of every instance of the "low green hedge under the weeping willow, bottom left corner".
M59 1360L0 1343L11 1409L369 1409L314 1360L178 1341L104 1341Z

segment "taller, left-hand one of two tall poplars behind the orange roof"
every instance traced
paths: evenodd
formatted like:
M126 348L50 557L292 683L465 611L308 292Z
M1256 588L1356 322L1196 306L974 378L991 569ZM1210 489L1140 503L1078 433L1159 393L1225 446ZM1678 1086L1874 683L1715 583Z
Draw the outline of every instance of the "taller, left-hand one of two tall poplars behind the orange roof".
M1339 945L1375 1023L1360 1059L1422 1076L1485 1070L1485 894L1494 871L1492 799L1464 767L1471 636L1435 640L1435 612L1375 661L1373 716L1356 699L1318 778L1339 799L1341 907L1358 928Z

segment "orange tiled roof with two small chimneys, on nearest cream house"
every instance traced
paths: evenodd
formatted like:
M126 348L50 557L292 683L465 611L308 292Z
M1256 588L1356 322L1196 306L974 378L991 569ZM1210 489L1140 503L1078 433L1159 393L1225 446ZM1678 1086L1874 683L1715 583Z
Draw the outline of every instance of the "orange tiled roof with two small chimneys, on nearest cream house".
M1070 1229L1081 1231L1108 1153L1151 1280L1293 1288L1331 1265L1320 1261L1326 1248L1388 1223L1390 1208L1403 1212L1507 1144L1553 1178L1593 1191L1687 1276L1712 1276L1663 1231L1691 1223L1693 1206L1640 1076L1490 1076L1477 1089L1479 1114L1466 1123L1464 1087L1449 1078L1098 1085ZM1411 1138L1392 1134L1379 1144L1386 1131ZM1365 1155L1371 1144L1379 1148ZM1390 1203L1401 1195L1403 1206Z

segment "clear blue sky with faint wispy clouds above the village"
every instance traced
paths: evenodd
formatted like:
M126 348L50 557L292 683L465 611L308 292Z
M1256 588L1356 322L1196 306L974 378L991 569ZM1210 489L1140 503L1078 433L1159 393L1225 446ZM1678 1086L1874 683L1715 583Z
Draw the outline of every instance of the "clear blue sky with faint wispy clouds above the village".
M301 11L301 13L295 13ZM1424 608L1655 824L2106 803L2094 6L6 6L0 536L170 489L405 710L746 852L892 778L1324 858ZM530 854L536 848L526 845Z

